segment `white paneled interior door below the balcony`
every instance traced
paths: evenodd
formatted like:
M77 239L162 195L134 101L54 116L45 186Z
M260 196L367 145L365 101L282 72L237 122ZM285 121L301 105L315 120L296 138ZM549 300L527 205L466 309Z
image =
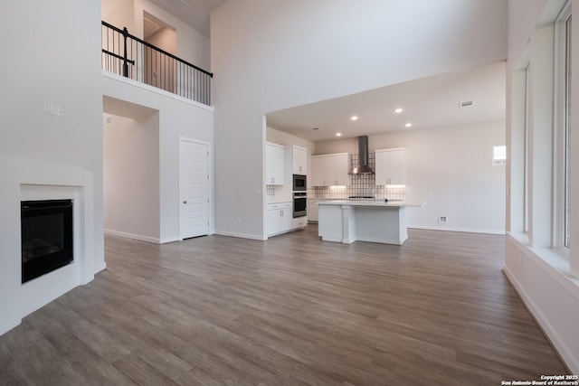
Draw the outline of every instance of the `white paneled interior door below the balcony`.
M209 145L179 141L179 237L209 234Z

